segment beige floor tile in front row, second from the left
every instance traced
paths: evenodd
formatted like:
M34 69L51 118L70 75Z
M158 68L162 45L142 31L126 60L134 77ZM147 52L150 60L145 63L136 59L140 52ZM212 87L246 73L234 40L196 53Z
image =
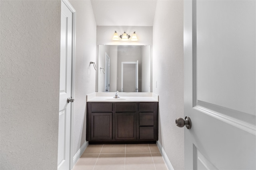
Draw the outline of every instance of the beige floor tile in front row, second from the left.
M100 154L94 170L124 170L125 154Z

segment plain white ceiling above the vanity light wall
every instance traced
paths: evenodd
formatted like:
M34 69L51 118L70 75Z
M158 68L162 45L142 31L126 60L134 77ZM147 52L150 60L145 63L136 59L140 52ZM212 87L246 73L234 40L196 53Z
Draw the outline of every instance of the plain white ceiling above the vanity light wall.
M157 0L91 0L99 26L153 26Z

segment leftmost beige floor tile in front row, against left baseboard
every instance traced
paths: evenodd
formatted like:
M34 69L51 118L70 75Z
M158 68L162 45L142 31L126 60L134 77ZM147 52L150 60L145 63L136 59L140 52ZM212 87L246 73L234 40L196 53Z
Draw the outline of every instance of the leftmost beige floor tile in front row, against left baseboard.
M82 154L72 170L93 170L99 154Z

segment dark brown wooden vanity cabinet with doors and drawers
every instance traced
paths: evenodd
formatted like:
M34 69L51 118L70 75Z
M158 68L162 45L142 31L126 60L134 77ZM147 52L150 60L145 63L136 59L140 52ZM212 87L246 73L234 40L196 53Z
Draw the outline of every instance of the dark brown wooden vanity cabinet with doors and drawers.
M89 143L156 143L158 102L87 102Z

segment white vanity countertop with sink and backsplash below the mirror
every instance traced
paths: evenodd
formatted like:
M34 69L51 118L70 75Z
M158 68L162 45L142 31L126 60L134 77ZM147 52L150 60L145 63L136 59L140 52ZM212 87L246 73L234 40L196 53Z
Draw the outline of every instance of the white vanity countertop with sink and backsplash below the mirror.
M86 102L158 102L158 95L150 92L94 92L86 96Z

